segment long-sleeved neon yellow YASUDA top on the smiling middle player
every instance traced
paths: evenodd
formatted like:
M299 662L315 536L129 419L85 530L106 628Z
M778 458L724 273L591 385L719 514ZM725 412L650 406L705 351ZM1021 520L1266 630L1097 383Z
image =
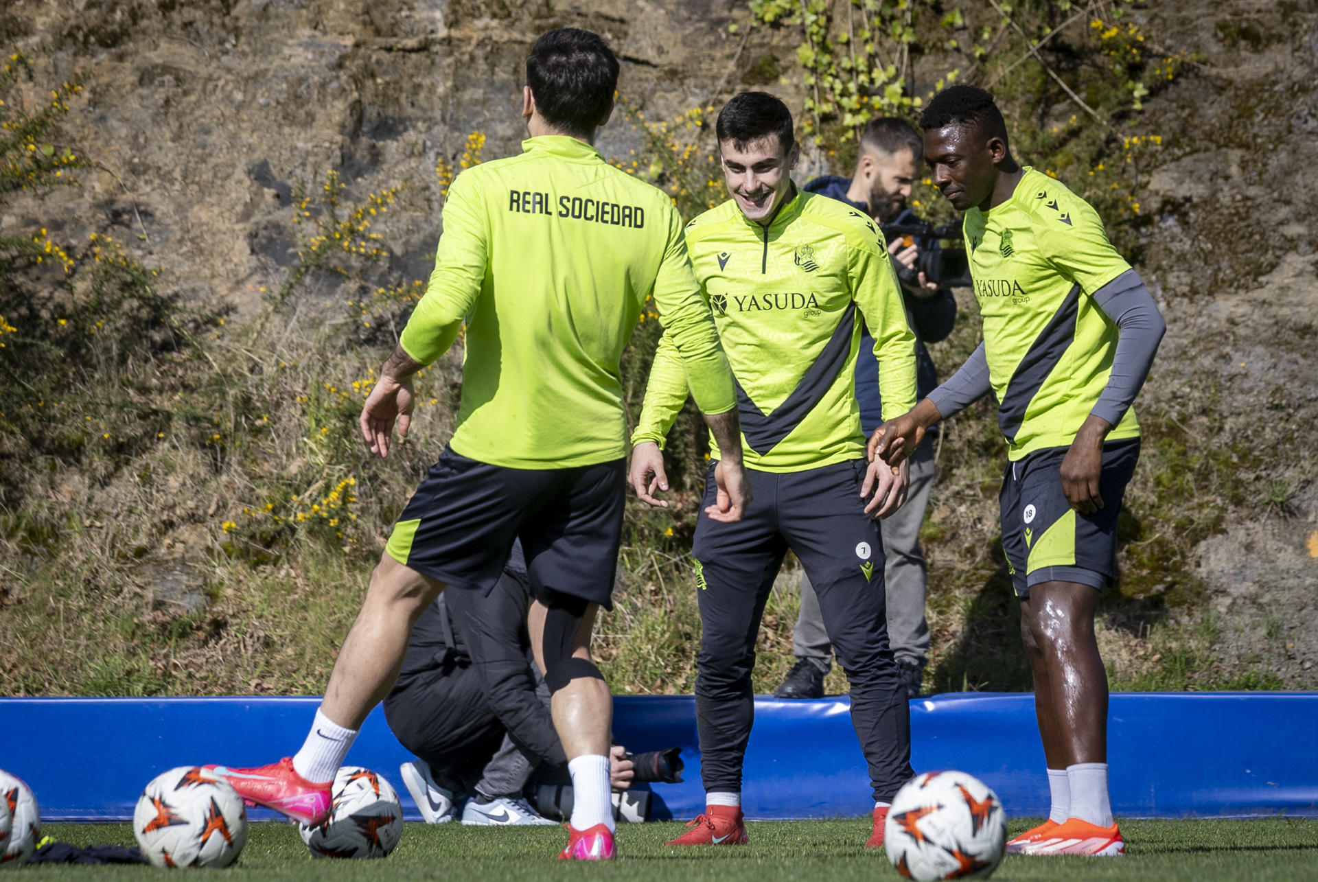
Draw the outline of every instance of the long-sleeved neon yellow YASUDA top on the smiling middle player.
M862 212L797 191L764 227L729 200L691 221L687 241L737 378L749 468L797 472L865 456L855 402L862 318L883 415L915 406L915 335L883 233ZM666 334L633 444L663 444L687 381ZM718 456L713 439L710 447Z

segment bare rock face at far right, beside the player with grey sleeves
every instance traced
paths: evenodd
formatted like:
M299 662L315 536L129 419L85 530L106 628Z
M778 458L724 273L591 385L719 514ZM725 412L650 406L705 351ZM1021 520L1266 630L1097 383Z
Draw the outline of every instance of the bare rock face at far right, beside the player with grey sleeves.
M1318 663L1315 11L1232 1L1151 12L1211 70L1148 108L1169 149L1149 177L1156 220L1141 269L1169 330L1145 394L1189 418L1188 436L1239 451L1243 504L1194 550L1202 603L1219 614L1224 653L1265 653L1290 683L1311 683Z

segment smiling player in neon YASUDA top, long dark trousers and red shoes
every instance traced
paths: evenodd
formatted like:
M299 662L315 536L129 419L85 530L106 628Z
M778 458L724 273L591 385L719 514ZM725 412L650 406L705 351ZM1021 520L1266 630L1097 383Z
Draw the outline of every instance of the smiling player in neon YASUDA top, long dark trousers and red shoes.
M809 573L824 624L851 684L851 720L874 791L869 845L911 777L905 686L888 649L883 543L876 518L902 505L907 472L865 461L854 393L861 324L874 334L887 415L915 403L915 338L883 235L865 212L792 183L792 115L766 92L743 92L716 124L728 202L687 227L692 262L737 377L742 436L714 438L713 472L746 461L755 506L738 523L701 514L696 573L702 634L696 676L706 809L673 845L741 844L742 762L754 715L755 635L788 548ZM631 440L631 484L650 505L667 489L660 443L688 376L666 334ZM717 510L717 509L708 509Z

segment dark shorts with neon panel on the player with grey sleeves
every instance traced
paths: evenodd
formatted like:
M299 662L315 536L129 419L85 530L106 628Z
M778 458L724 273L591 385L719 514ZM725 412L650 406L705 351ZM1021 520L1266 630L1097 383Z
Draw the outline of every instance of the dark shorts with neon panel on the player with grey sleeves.
M1069 447L1049 447L1007 463L998 502L1002 544L1017 597L1031 585L1074 581L1102 591L1116 576L1116 515L1140 459L1140 439L1103 444L1098 492L1103 508L1081 514L1062 494L1061 467Z

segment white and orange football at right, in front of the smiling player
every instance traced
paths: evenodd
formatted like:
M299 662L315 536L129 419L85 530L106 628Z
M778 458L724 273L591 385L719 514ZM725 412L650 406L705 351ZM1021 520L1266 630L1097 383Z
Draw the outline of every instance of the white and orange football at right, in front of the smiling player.
M908 879L987 878L1007 844L996 794L963 771L916 775L892 798L888 860Z

